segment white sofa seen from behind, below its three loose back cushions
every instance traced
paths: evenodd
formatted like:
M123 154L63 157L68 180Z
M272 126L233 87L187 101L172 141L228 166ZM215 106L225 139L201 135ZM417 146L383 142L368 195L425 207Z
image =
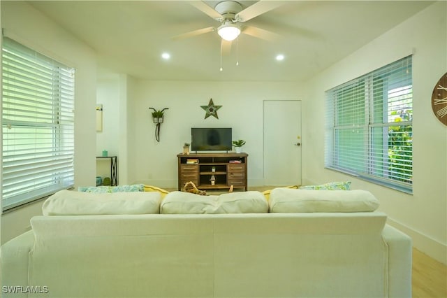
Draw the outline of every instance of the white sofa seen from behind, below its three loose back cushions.
M287 194L265 213L36 216L1 248L2 297L411 297L411 239L386 214L275 213Z

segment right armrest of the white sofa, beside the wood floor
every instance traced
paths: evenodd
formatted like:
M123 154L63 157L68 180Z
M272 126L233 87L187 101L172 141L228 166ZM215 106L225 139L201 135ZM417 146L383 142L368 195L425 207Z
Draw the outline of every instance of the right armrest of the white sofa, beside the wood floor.
M382 236L388 246L388 297L411 297L411 238L390 225Z

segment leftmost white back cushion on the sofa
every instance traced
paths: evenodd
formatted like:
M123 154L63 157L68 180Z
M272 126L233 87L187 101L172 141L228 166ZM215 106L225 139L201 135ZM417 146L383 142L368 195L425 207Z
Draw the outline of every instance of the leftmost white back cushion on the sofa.
M61 190L42 205L43 215L160 213L159 192L75 192Z

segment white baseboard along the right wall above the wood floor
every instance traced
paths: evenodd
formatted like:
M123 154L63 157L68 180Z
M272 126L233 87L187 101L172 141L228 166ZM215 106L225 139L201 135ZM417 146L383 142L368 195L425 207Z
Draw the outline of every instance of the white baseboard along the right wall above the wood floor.
M425 253L432 257L434 260L441 262L443 264L447 264L447 246L440 243L439 241L430 238L427 235L424 235L406 225L403 225L400 222L397 222L391 218L387 220L388 224L395 227L396 229L400 229L400 231L404 232L408 236L413 239L413 247L421 252Z

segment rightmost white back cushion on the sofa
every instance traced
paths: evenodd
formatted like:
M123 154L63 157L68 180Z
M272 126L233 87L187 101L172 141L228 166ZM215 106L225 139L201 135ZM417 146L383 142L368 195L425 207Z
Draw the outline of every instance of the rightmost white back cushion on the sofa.
M372 212L379 201L366 190L292 190L275 188L270 212Z

